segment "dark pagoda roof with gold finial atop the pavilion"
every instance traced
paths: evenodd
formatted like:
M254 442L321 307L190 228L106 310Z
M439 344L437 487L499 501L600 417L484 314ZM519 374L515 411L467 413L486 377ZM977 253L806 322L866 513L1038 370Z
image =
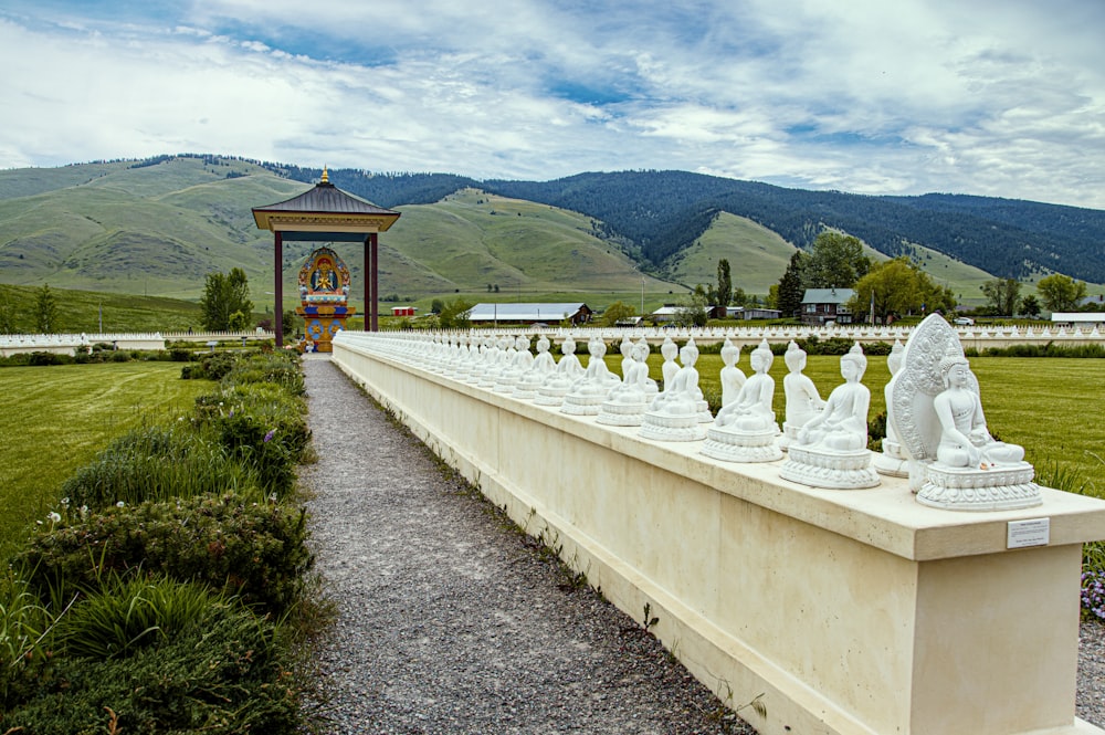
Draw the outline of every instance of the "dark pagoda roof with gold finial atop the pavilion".
M399 214L338 189L325 171L323 180L303 193L253 208L257 228L281 232L284 240L358 242L367 233L386 231Z

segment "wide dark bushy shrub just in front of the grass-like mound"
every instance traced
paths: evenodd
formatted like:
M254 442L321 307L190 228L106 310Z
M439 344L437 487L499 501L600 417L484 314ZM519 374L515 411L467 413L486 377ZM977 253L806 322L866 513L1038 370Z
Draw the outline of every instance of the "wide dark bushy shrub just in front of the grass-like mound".
M233 494L110 506L43 526L17 563L44 595L70 597L112 571L160 574L238 594L248 605L286 611L314 566L306 511Z

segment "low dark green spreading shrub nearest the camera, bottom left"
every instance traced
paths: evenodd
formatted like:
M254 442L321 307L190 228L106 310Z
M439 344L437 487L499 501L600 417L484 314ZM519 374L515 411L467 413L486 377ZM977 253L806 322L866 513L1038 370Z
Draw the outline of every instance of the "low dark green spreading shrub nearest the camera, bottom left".
M158 588L162 597L175 595L164 582ZM292 735L298 732L299 691L281 636L249 610L212 605L198 624L157 636L127 655L61 658L33 695L0 715L0 728L23 735Z

